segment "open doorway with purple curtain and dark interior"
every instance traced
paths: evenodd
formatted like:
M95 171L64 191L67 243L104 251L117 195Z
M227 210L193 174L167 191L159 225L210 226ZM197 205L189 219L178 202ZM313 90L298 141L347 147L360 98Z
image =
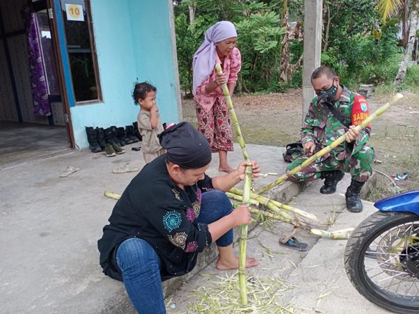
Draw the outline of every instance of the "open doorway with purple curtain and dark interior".
M0 0L0 168L73 148L47 0Z

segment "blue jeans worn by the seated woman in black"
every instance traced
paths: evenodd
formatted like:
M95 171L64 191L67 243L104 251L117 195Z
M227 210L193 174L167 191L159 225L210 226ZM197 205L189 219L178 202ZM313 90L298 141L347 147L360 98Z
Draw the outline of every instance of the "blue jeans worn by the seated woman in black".
M199 223L213 223L232 212L230 200L223 191L202 194ZM232 244L232 229L216 240L218 246ZM142 239L132 237L118 246L116 262L122 272L125 289L139 313L166 313L161 288L161 262L155 250Z

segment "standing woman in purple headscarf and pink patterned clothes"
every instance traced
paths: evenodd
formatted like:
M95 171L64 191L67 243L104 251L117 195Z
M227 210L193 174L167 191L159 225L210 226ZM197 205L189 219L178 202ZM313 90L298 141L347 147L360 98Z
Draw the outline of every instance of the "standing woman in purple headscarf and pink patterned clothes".
M219 152L219 171L231 172L227 152L233 150L231 118L221 85L234 92L237 73L242 68L237 32L228 21L217 22L205 31L205 40L193 56L193 95L198 130L207 138L212 152ZM220 63L223 74L215 70Z

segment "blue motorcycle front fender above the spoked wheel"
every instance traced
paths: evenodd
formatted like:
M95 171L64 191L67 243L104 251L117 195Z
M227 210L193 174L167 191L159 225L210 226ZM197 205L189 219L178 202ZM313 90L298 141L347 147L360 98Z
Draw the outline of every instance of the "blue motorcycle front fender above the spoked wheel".
M384 198L374 206L383 212L413 212L419 215L419 190Z

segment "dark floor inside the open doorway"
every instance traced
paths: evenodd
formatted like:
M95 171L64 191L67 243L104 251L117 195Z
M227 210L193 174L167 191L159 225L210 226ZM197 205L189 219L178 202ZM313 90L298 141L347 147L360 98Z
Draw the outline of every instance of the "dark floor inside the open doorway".
M65 127L0 121L0 169L19 160L69 151Z

